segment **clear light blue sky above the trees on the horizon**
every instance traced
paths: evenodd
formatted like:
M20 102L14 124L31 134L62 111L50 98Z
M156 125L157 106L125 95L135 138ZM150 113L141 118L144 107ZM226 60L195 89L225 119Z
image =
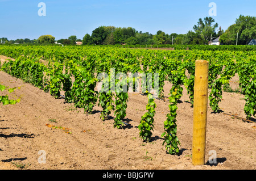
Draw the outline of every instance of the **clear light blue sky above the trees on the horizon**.
M46 16L39 16L38 4L46 4ZM255 0L0 0L0 37L38 39L52 35L59 39L82 37L99 26L133 27L137 31L158 30L187 33L199 18L209 16L209 3L217 5L212 18L226 30L242 15L256 16Z

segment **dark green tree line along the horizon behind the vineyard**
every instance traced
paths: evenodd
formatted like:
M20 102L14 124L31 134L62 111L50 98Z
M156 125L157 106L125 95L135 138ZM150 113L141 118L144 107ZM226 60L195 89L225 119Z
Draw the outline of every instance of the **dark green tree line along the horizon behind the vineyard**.
M189 30L185 34L168 34L159 30L155 35L152 35L148 32L137 31L132 27L100 26L93 30L91 35L86 33L82 40L72 35L67 39L55 41L55 37L43 35L34 40L17 39L9 41L6 37L3 37L1 43L52 44L57 42L60 44L75 45L77 41L82 41L84 45L204 45L209 44L210 41L217 37L219 37L219 41L223 45L247 45L252 39L256 39L256 17L240 15L236 19L236 22L229 26L226 31L218 27L218 23L212 17L205 17L204 19L200 18L197 24L192 27L192 30Z

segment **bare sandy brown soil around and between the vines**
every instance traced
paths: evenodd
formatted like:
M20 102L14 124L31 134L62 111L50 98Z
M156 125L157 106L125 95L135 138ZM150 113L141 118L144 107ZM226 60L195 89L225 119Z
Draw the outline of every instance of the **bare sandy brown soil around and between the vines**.
M6 57L1 56L1 61ZM238 87L234 77L231 87ZM101 121L101 107L95 106L91 115L55 99L49 93L0 71L0 84L16 89L10 98L20 98L15 105L0 106L0 169L195 169L195 170L255 170L255 123L249 123L221 113L212 113L208 103L205 165L192 165L193 108L184 88L177 110L177 137L181 145L179 155L166 153L163 121L168 102L155 100L155 129L151 142L143 142L137 126L146 112L147 97L129 94L124 129L113 128L113 119ZM164 94L168 96L170 83ZM3 95L7 92L0 92ZM63 95L63 94L62 94ZM16 96L16 97L15 97ZM240 117L245 100L243 95L224 92L222 111ZM112 112L111 116L114 112ZM48 126L47 126L48 124ZM49 125L69 128L53 129ZM42 162L42 150L45 163ZM217 163L210 164L210 150L216 151Z

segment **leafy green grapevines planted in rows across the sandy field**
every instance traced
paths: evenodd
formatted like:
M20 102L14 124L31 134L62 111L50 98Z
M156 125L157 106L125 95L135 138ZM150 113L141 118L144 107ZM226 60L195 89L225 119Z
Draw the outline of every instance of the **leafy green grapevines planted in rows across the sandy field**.
M114 111L114 127L123 127L126 117L128 94L123 89L129 88L130 79L122 79L119 75L129 73L158 73L159 98L163 97L164 81L170 81L170 113L164 121L163 144L170 154L179 152L179 139L176 137L177 102L182 96L185 85L193 106L193 83L195 80L195 60L209 61L209 102L212 110L218 112L218 103L222 98L222 87L238 74L242 94L245 95L245 113L247 119L255 116L255 65L254 52L228 50L147 50L125 49L113 47L56 47L56 46L0 46L0 54L15 58L5 62L1 70L21 78L32 85L50 92L59 98L60 91L65 92L65 102L74 103L92 113L94 105L102 107L101 119L105 120ZM47 60L44 65L40 59ZM114 70L111 71L111 70ZM102 72L105 78L99 78ZM111 75L118 77L114 82ZM148 74L150 75L150 74ZM121 76L122 77L122 76ZM73 78L73 81L72 81ZM129 80L129 81L127 81ZM98 82L102 82L102 90L96 91ZM135 81L134 79L132 80ZM104 87L103 85L108 85ZM115 87L113 92L110 89ZM152 88L154 88L152 76ZM133 87L135 89L135 87ZM147 88L146 88L147 90ZM150 90L147 90L150 91ZM140 136L149 141L154 128L156 104L150 93L148 95L147 113L142 116L139 125ZM113 100L114 98L114 100Z

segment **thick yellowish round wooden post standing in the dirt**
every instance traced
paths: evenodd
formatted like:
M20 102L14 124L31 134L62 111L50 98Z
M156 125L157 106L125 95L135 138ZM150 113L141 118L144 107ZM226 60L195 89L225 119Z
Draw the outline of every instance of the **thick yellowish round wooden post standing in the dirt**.
M208 71L208 61L196 60L192 139L193 165L205 164L205 139L208 104Z

